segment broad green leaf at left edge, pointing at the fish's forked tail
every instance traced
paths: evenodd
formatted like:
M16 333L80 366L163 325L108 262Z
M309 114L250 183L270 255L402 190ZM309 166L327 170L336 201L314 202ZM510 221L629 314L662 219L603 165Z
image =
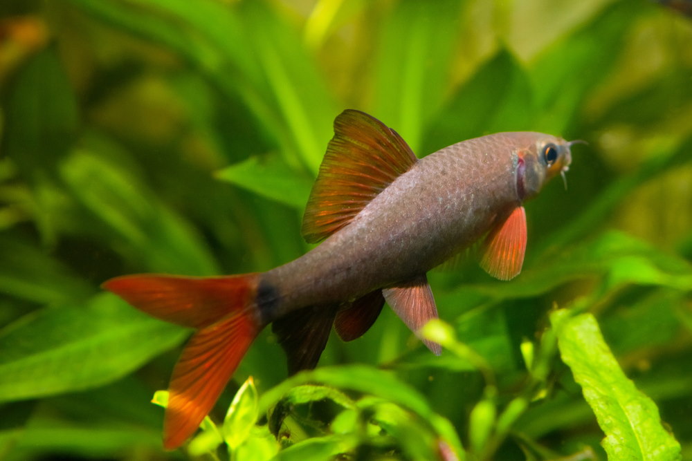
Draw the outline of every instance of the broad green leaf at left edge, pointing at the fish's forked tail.
M179 326L111 294L82 307L38 310L0 330L0 402L107 384L183 337Z

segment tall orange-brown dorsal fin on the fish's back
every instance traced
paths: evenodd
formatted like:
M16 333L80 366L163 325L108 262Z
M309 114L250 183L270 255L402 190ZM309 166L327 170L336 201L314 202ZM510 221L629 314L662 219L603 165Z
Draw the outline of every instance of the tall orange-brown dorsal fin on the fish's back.
M416 161L401 136L376 118L353 109L340 113L303 216L305 240L316 243L350 223Z

